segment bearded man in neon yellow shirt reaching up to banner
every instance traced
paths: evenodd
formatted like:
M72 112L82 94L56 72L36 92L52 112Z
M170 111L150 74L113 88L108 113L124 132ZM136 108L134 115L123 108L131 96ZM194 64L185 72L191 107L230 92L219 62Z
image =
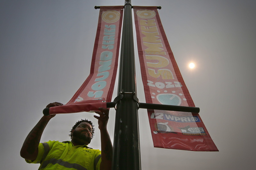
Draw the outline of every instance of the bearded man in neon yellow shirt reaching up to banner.
M61 106L54 102L46 107ZM39 169L77 169L77 170L110 170L112 164L113 146L108 134L108 109L99 108L94 115L98 119L100 129L101 150L89 148L94 134L91 121L87 119L76 122L71 129L71 141L49 141L40 143L41 136L47 123L55 116L43 116L36 126L29 132L20 150L20 156L28 163L40 163Z

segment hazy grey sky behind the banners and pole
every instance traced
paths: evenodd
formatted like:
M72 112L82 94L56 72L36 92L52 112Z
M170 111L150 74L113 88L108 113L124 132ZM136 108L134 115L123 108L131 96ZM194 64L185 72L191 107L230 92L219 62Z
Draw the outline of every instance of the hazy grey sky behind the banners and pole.
M124 0L0 1L0 169L39 167L27 164L20 148L45 106L67 103L89 75L99 15L95 5L124 5ZM132 0L132 5L162 6L159 15L180 72L220 150L154 148L146 110L140 109L142 170L254 169L256 1ZM145 102L141 85L137 90ZM69 140L77 120L86 117L97 125L92 115L55 116L41 141ZM111 109L112 139L114 122ZM97 131L89 146L100 149Z

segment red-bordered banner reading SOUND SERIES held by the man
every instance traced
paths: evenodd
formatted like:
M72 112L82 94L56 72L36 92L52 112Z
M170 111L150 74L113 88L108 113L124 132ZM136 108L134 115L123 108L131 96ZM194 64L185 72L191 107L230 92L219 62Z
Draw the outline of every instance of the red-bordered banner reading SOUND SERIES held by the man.
M78 112L77 108L79 107L75 105L86 100L103 99L104 102L111 102L116 80L123 8L124 6L100 7L90 75L68 101L67 105L69 106L66 113ZM96 102L96 104L99 103ZM59 106L58 109L61 107L65 107L65 105ZM73 112L72 108L74 108ZM53 113L50 108L50 114L57 112Z

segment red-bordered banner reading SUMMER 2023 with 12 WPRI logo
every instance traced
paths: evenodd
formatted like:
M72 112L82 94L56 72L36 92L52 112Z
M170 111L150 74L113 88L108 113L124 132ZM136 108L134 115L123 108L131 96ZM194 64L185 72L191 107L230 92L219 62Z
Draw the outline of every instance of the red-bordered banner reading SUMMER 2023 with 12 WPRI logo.
M147 103L195 107L156 7L133 6ZM198 113L148 110L154 147L218 151Z

